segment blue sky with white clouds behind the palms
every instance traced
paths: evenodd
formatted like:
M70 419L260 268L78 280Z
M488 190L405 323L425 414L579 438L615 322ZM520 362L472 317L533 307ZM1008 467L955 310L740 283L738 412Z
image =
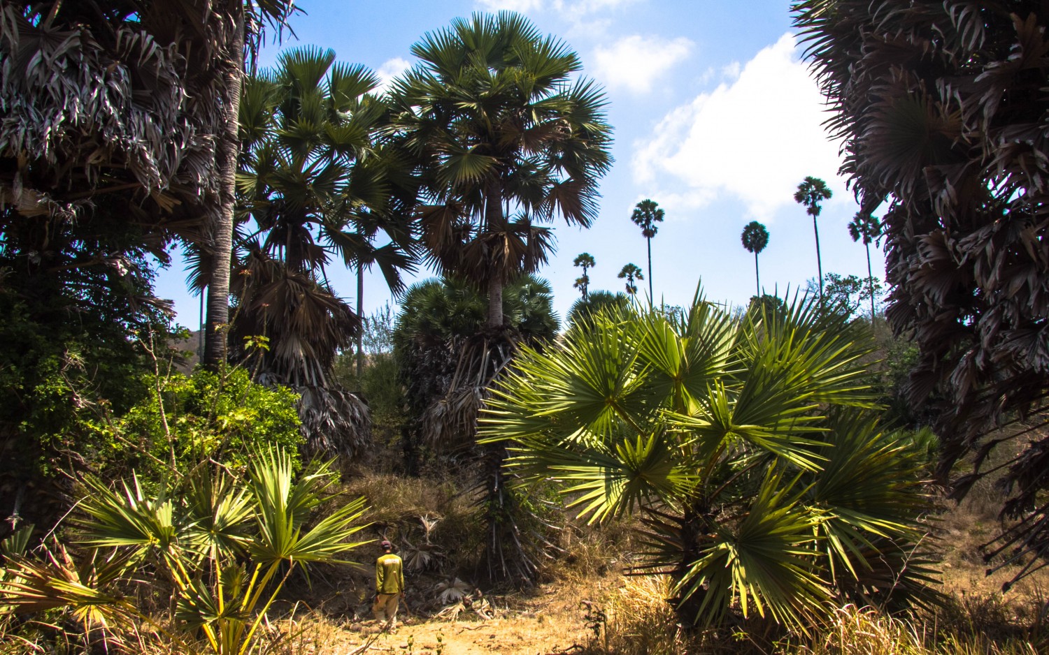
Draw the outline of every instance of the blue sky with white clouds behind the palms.
M364 64L390 80L414 63L412 43L475 12L511 9L569 44L583 75L600 84L615 129L615 165L601 181L600 215L588 230L555 223L557 252L538 275L550 280L563 319L579 298L573 267L580 253L597 265L591 290L623 290L624 264L644 270L638 284L656 302L707 300L745 305L755 292L754 256L740 236L752 220L769 231L759 255L762 287L783 297L816 278L811 217L793 195L806 176L822 178L834 196L819 216L823 272L866 277L861 243L847 225L859 209L837 175L839 144L822 123L829 113L801 54L788 0L299 0L296 38L270 44L260 63L282 48L317 45L338 60ZM665 211L651 240L630 221L640 200ZM874 275L884 257L872 244ZM196 327L198 299L186 291L180 256L157 279L174 300L178 323ZM421 270L416 280L433 277ZM336 293L356 306L354 275L333 265ZM368 277L364 311L397 305L382 277Z

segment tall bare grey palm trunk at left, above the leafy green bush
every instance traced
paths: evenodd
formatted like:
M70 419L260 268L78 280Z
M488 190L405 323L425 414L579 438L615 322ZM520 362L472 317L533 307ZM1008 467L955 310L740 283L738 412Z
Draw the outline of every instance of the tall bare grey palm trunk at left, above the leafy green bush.
M230 321L230 262L233 257L233 211L236 203L237 140L240 114L240 87L244 73L244 7L241 0L228 3L234 17L234 29L222 63L223 121L216 152L219 176L219 212L212 233L214 248L211 279L208 284L208 324L205 329L204 364L215 368L226 362L226 330Z

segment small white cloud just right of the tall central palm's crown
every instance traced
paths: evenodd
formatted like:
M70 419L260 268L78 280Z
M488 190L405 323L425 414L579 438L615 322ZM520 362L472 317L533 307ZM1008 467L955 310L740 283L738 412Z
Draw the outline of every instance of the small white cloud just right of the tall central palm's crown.
M609 88L645 93L675 64L688 57L692 42L684 37L664 40L633 35L594 51L594 77Z

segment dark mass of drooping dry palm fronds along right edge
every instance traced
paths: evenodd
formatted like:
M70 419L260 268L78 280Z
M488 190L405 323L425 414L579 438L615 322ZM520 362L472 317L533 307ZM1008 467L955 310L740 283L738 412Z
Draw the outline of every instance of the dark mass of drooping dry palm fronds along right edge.
M1049 437L987 436L1018 414L1043 423L1049 395L1049 8L811 0L794 13L841 172L864 212L889 202L885 313L918 348L908 399L942 393L940 473L975 455L960 498L996 445L1025 435L1004 487L1019 524L993 550L1049 555Z

